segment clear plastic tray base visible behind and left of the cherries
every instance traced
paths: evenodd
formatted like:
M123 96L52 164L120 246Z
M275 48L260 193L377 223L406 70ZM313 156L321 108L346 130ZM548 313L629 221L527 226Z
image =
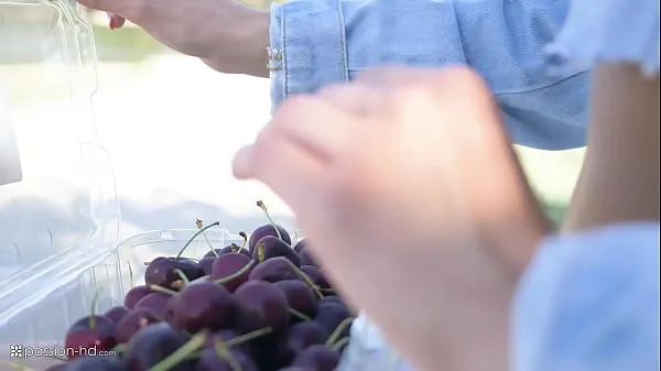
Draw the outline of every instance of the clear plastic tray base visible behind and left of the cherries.
M0 323L0 360L10 360L11 345L62 346L68 326L91 310L94 295L99 292L96 313L104 313L123 303L132 286L144 282L145 262L156 257L173 257L196 230L160 230L133 236L119 244L112 253L99 255L88 266L58 282L56 288L35 297L30 306ZM205 233L214 248L230 243L241 245L243 239L223 229ZM300 239L292 232L292 239ZM204 237L198 237L186 249L184 257L201 258L209 251ZM15 361L15 360L14 360ZM26 365L44 364L45 359L28 359ZM52 362L52 361L51 361ZM2 367L0 365L0 370Z

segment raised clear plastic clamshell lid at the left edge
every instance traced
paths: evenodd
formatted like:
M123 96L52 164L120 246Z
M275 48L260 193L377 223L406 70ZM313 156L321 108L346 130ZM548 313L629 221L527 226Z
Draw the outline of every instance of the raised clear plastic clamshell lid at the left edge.
M75 2L0 0L0 325L117 243L119 199Z

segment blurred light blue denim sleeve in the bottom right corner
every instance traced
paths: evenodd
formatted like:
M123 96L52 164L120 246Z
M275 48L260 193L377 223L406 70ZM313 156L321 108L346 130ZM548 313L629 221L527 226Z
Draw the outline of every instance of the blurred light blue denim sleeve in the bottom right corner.
M512 313L514 371L659 370L659 223L548 240Z

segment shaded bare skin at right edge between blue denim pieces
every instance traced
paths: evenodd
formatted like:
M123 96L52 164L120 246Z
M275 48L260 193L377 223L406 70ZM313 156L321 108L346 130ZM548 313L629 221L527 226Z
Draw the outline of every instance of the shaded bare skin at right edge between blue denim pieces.
M659 220L659 77L595 69L588 149L563 229Z

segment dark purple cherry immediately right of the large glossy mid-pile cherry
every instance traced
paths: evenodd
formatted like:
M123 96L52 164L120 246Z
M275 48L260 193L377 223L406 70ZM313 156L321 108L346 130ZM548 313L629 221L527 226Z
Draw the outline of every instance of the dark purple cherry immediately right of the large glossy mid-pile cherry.
M248 281L234 294L239 312L237 327L253 331L270 327L282 331L289 325L289 305L284 294L266 281Z

